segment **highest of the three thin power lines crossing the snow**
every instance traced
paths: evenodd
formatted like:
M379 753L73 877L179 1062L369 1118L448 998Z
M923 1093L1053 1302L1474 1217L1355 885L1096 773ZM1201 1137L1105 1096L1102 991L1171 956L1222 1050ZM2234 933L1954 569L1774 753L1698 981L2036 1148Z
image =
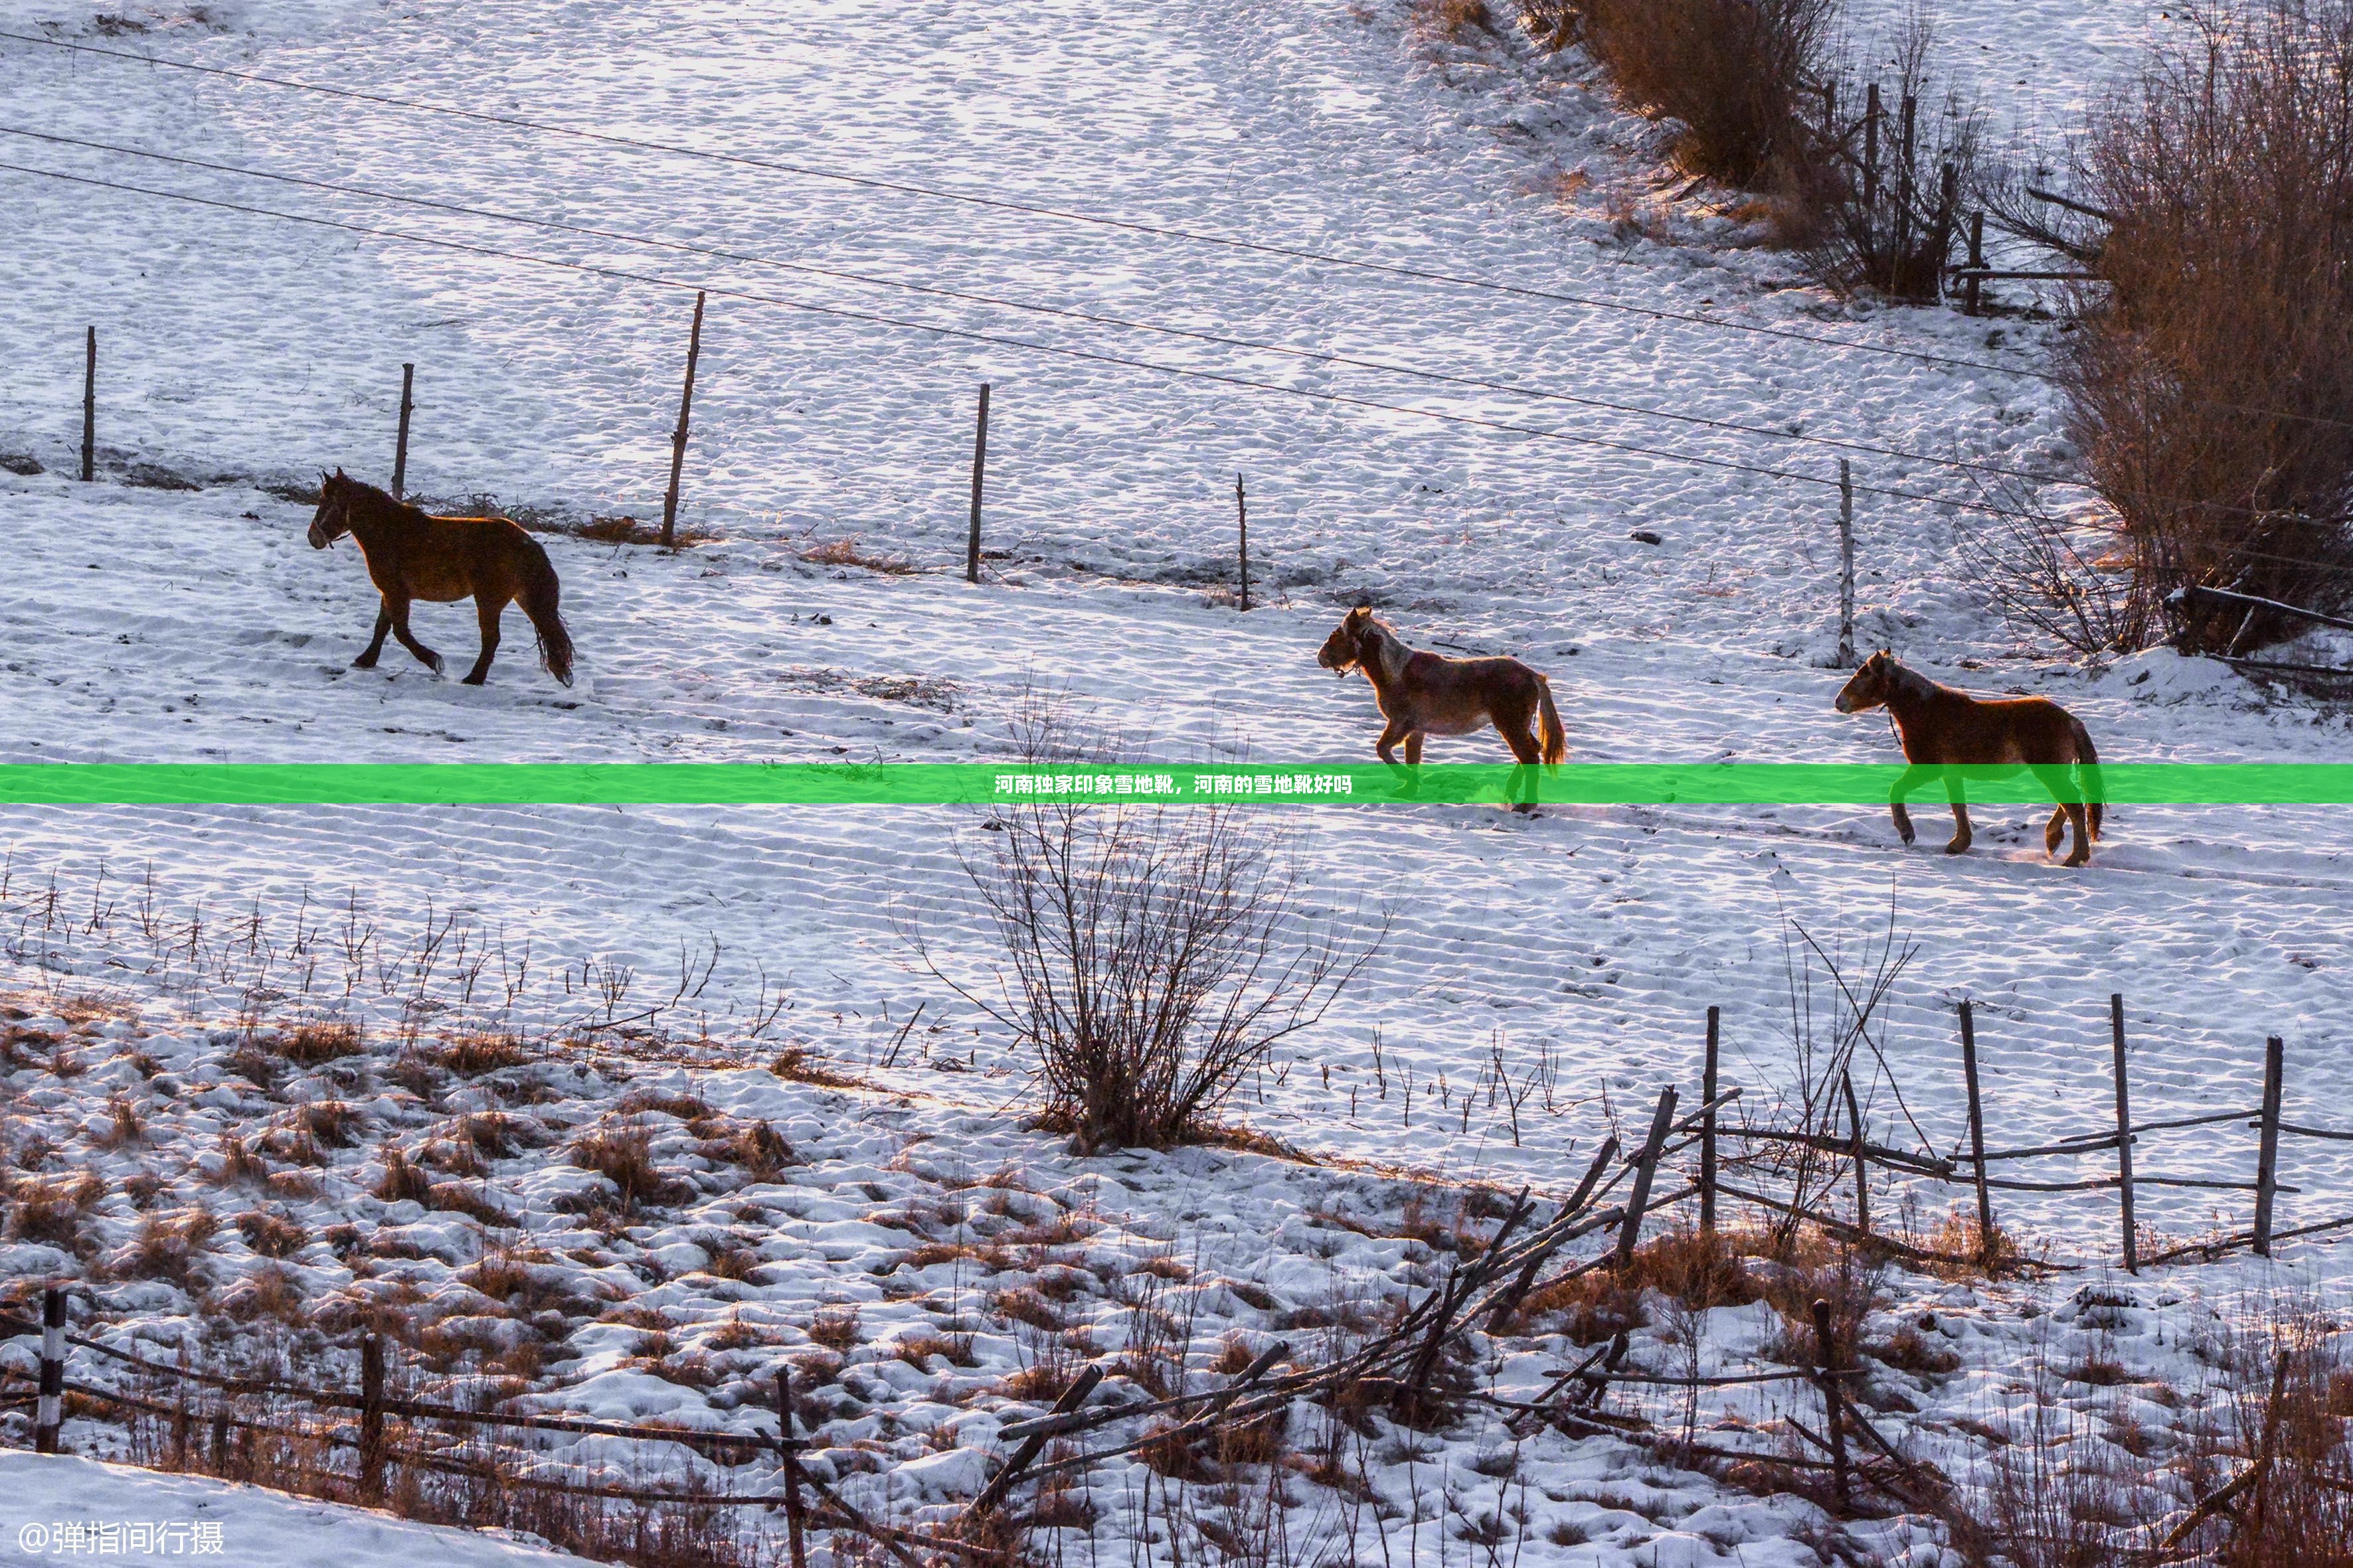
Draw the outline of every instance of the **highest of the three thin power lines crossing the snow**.
M191 71L198 75L216 75L233 82L254 82L256 87L285 87L292 92L318 92L336 99L348 99L353 103L376 103L381 108L400 108L424 115L447 115L454 120L473 120L478 125L501 125L508 129L534 132L544 136L574 136L579 141L595 141L602 146L628 148L635 153L664 153L671 158L704 158L711 162L729 162L746 169L765 169L769 174L793 174L798 179L824 179L840 186L856 186L864 190L889 190L894 195L920 195L939 202L962 202L967 207L988 207L995 212L1016 212L1031 219L1054 219L1059 223L1089 223L1094 228L1115 228L1134 235L1151 235L1158 240L1186 240L1191 244L1214 244L1235 252L1254 252L1261 256L1282 256L1287 261L1313 261L1320 266L1344 266L1365 273L1386 273L1391 277L1409 277L1414 282L1442 282L1457 289L1487 289L1492 294L1511 294L1518 299L1541 299L1555 306L1581 306L1586 310L1619 310L1626 315L1640 315L1654 322L1682 322L1692 327L1715 327L1720 331L1748 331L1767 339L1788 339L1793 343L1814 343L1817 348L1845 348L1854 353L1894 355L1899 360L1918 360L1922 364L1944 364L1951 369L1981 369L2002 376L2031 376L2038 381L2059 381L2057 371L2033 369L2026 364L2000 364L1993 360L1962 360L1958 355L1937 355L1925 348L1899 348L1894 343L1854 343L1847 339L1821 336L1814 331L1795 331L1791 327L1762 327L1758 322L1732 322L1715 315L1692 315L1685 310L1659 310L1657 306L1631 306L1614 299L1593 299L1588 294L1565 294L1560 289L1532 289L1527 284L1497 282L1492 277L1466 277L1459 273L1438 273L1431 268L1405 266L1398 261L1367 261L1362 256L1339 256L1332 252L1315 252L1299 244L1275 244L1271 240L1238 240L1233 235L1212 235L1198 228L1174 228L1167 223L1144 223L1139 219L1106 219L1092 212L1073 212L1066 207L1045 207L1035 202L1016 202L1002 195L979 195L969 190L946 190L939 186L918 186L911 181L880 179L873 174L845 174L840 169L824 169L816 165L784 162L774 158L753 158L748 153L718 153L711 148L692 148L675 141L647 141L640 136L619 136L614 132L593 132L579 125L560 125L553 120L525 120L522 115L494 115L480 108L452 108L447 103L428 103L421 99L398 99L381 92L360 92L355 87L327 87L325 82L301 82L282 75L261 75L254 71L231 71L226 66L198 66L195 61L169 59L162 54L139 54L134 49L106 49L99 45L66 42L61 38L40 38L35 33L7 33L0 31L0 40L14 40L26 45L47 45L52 49L71 49L78 54L96 54L104 59L132 61L139 66L167 66L172 71Z

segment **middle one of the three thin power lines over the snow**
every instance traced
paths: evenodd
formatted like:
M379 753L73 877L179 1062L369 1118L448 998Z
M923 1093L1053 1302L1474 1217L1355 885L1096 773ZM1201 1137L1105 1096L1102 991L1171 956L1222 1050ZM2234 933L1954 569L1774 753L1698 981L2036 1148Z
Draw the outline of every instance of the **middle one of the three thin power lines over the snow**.
M1974 470L1974 473L2000 475L2005 480L2031 480L2035 484L2080 484L2078 477L2057 475L2057 473L2035 473L2031 468L2007 468L2002 463L1986 463L1986 461L1972 461L1972 458L1941 458L1941 456L1934 456L1934 454L1927 454L1927 451L1906 451L1904 447L1875 447L1871 442L1852 442L1852 440L1840 440L1840 437L1831 437L1831 435L1802 435L1798 430L1774 430L1772 425L1744 425L1744 423L1729 421L1729 418L1708 418L1704 414L1678 414L1673 409L1645 409L1640 404L1609 402L1607 397L1584 397L1584 395L1577 395L1577 393L1555 393L1555 390L1546 390L1546 388L1513 386L1508 381L1485 381L1480 376L1457 376L1457 374L1449 374L1449 371L1424 369L1424 367L1417 367L1417 364L1395 364L1391 360L1362 360L1362 357L1355 357L1355 355L1337 355L1337 353L1322 353L1322 350L1313 350L1313 348L1289 348L1289 346L1282 346L1282 343L1259 343L1254 339L1235 339L1235 336L1224 336L1224 334L1217 334L1217 331L1200 331L1200 329L1193 329L1193 327L1169 327L1169 324L1162 324L1162 322L1139 322L1139 320L1118 317L1118 315L1099 315L1099 313L1092 313L1092 310L1075 310L1075 308L1068 308L1068 306L1042 306L1042 303L1035 303L1035 301L1002 299L1002 296L995 296L995 294L976 294L972 289L948 289L948 287L941 287L941 284L906 282L906 280L899 280L899 277L875 277L871 273L849 273L849 270L842 270L842 268L824 268L824 266L814 266L814 263L807 263L807 261L776 261L772 256L753 256L753 254L746 254L746 252L729 252L729 249L718 249L718 247L708 247L708 244L689 244L685 240L661 240L661 237L652 237L652 235L633 235L633 233L612 230L612 228L593 228L593 226L586 226L586 223L562 223L558 219L532 219L532 216L515 214L515 212L496 212L496 209L489 209L489 207L466 207L461 202L442 202L442 200L421 197L421 195L402 195L398 190L374 190L369 186L346 186L346 183L339 183L339 181L308 179L308 176L301 176L301 174L278 174L273 169L252 169L252 167L245 167L245 165L212 162L207 158L186 158L186 155L179 155L179 153L155 153L155 150L148 150L148 148L132 148L132 146L120 146L120 143L111 143L111 141L87 141L82 136L59 136L54 132L35 132L35 129L16 127L16 125L0 125L0 136L26 136L26 139L33 139L33 141L49 141L49 143L75 146L75 148L92 148L92 150L99 150L99 153L120 153L125 158L146 158L146 160L153 160L153 162L167 162L167 165L179 165L179 167L188 167L188 169L209 169L214 174L235 174L235 176L242 176L242 179L266 179L266 181L275 181L275 183L282 183L282 186L301 186L306 190L332 190L336 195L358 195L358 197L367 197L367 200L376 200L376 202L398 202L402 207L424 207L428 212L449 212L449 214L459 214L459 216L468 216L468 219L489 219L494 223L518 223L518 226L525 226L525 228L546 228L546 230L553 230L553 233L586 235L586 237L593 237L593 240L612 240L616 244L642 244L642 247L649 247L649 249L668 249L668 252L680 252L680 254L687 254L687 256L706 256L706 259L713 259L713 261L739 261L739 263L746 263L746 266L765 266L765 268L776 268L776 270L784 270L784 273L807 273L812 277L833 277L833 280L840 280L840 282L859 282L859 284L882 287L882 289L904 289L908 294L932 294L932 296L939 296L939 299L958 299L958 301L965 301L965 303L981 303L981 306L993 306L993 308L1000 308L1000 310L1026 310L1031 315L1052 315L1052 317L1064 317L1064 320L1075 320L1075 322L1089 322L1089 324L1096 324L1096 327L1120 327L1125 331L1153 331L1153 334L1160 334L1160 336L1191 339L1195 343L1217 343L1219 348L1245 348L1245 350L1252 350L1252 353L1282 355L1282 357L1289 357L1289 360L1308 360L1308 362L1315 362L1315 364L1346 364L1351 369L1369 369L1369 371L1381 371L1381 374L1391 374L1391 376L1412 376L1417 381L1440 381L1445 386L1461 386L1461 388L1473 388L1473 390L1482 390L1482 393L1504 393L1508 397L1527 397L1527 400L1539 400L1539 402L1569 402L1569 404L1586 407L1586 409L1607 409L1612 414L1633 414L1638 418L1661 418L1661 421L1673 421L1673 423L1680 423L1680 425L1701 425L1701 428L1708 428L1708 430L1729 430L1734 435L1755 435L1755 437L1777 440L1777 442L1800 442L1800 444L1814 444L1814 447L1833 447L1838 451L1861 451L1861 454L1882 456L1882 458L1899 458L1899 461L1908 461L1908 463L1934 463L1934 465L1944 465L1944 468L1967 468L1967 470Z

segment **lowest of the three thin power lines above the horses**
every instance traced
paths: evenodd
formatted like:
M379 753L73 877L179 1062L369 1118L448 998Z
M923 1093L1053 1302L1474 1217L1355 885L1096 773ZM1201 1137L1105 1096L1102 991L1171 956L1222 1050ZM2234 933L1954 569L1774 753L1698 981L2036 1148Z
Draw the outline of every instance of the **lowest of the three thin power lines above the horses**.
M1141 369L1141 371L1151 371L1155 376L1174 376L1174 378L1181 378L1181 381L1209 381L1214 386L1240 388L1240 390L1247 390L1247 393L1273 393L1273 395L1280 395L1280 397L1299 397L1299 400L1306 400L1306 402L1325 402L1325 404L1348 407L1348 409L1369 409L1369 411L1379 411L1379 414L1407 414L1412 418L1431 418L1431 421L1447 423L1447 425L1468 425L1468 428L1475 428L1475 430L1497 430L1497 433L1504 433L1504 435L1527 435L1527 437L1548 440L1548 442L1567 442L1572 447L1600 447L1605 451L1624 451L1624 454L1645 456L1645 458L1664 458L1664 461L1671 461L1671 463L1689 463L1694 468L1718 468L1718 470L1727 470L1727 473L1746 473L1746 475L1758 475L1758 477L1767 477L1767 480L1791 480L1795 484L1819 484L1819 487L1838 489L1838 480L1828 480L1824 475L1798 473L1798 470L1791 470L1791 468L1767 468L1762 463L1739 463L1739 461L1732 461L1732 458L1711 458L1711 456L1701 456L1697 451L1671 451L1671 449L1664 449L1664 447L1642 447L1638 442L1614 442L1614 440L1607 440L1607 437L1600 437L1600 435L1572 435L1567 430L1546 430L1541 425L1515 425L1511 421L1499 421L1499 418L1478 418L1478 416L1471 416L1471 414L1447 414L1442 409L1419 409L1419 407L1412 407L1412 404L1379 402L1379 400L1372 400L1372 397L1351 397L1346 393L1320 393L1320 390L1301 388L1301 386L1282 386L1280 381L1257 381L1252 376L1235 376L1235 374L1228 374L1228 371L1207 371L1207 369L1188 369L1188 367L1181 367L1181 364L1160 364L1155 360L1134 360L1134 357L1127 357L1127 355L1111 355L1111 353L1101 353L1101 350L1092 350L1092 348L1068 348L1068 346L1061 346L1061 343L1038 343L1033 339L1016 339L1016 336L1005 336L1005 334L993 334L993 331L974 331L969 327L944 327L944 324L936 324L936 322L911 322L911 320L904 320L904 317L880 315L880 313L873 313L873 310L845 310L840 306L816 306L816 303L809 303L809 301L802 301L802 299L788 299L788 296L781 296L781 294L755 294L751 289L727 289L727 287L718 287L718 284L685 282L680 277L661 277L661 275L654 275L654 273L635 273L635 270L628 270L628 268L600 266L600 263L591 263L591 261L562 261L558 256L534 256L529 252L513 252L513 249L501 249L501 247L494 247L494 244L473 244L468 240L447 240L447 237L435 237L435 235L412 235L412 233L405 233L405 230L398 230L398 228L376 228L376 226L369 226L369 223L348 223L348 221L341 221L341 219L322 219L322 216L313 216L313 214L304 214L304 212L278 212L278 209L271 209L271 207L252 207L247 202L226 202L226 200L207 197L207 195L186 195L186 193L179 193L179 190L155 190L153 186L132 186L127 181L96 179L92 174L66 174L61 169L33 169L28 165L14 165L14 162L0 162L0 172L31 174L35 179L56 179L56 181L66 181L66 183L73 183L73 186L92 186L92 188L99 188L99 190L122 190L122 193L129 193L129 195L151 195L151 197L167 200L167 202L186 202L191 207L212 207L212 209L219 209L219 212L240 212L240 214L261 216L261 219L278 219L282 223L304 223L304 226L311 226L311 228L334 228L334 230L353 233L353 235L372 235L372 237L381 237L381 240L400 240L405 244L431 244L435 249L464 252L464 254L471 254L471 256L489 256L494 261L522 261L527 266L544 266L544 268L555 268L555 270L565 270L565 273L584 273L584 275L591 275L591 277L607 277L607 280L614 280L614 282L642 282L642 284L649 284L649 287L656 287L656 289L680 289L680 292L701 289L701 292L713 294L718 299L739 299L739 301L758 303L758 306L779 306L779 308L786 308L786 310L802 310L802 313L809 313L809 315L826 315L826 317L835 317L835 320L845 320L845 322L866 322L866 324L875 324L875 327L894 327L894 329L901 329L901 331L925 331L925 334L932 334L932 336L960 339L960 341L967 341L967 343L988 343L993 348L1019 348L1019 350L1026 350L1026 353L1059 355L1059 357L1066 357L1066 360L1085 360L1089 364L1111 364L1111 367L1118 367L1118 369ZM1925 494L1925 491L1894 489L1894 487L1887 487L1887 484L1854 484L1854 491L1864 494L1864 496L1885 496L1885 498L1892 498L1892 501L1922 501L1927 505L1948 505L1948 508L1955 508L1955 510L1962 510L1962 512L1984 512L1988 517L2028 517L2028 512L2014 512L2014 510L2007 510L2007 508L1986 505L1981 501L1960 501L1960 498L1953 498L1953 496L1934 496L1934 494Z

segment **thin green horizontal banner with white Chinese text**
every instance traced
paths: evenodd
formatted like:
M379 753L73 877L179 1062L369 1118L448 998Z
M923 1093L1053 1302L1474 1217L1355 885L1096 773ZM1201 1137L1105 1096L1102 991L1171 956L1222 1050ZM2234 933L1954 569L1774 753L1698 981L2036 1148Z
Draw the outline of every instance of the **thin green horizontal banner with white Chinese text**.
M944 806L944 804L2353 804L2341 762L2111 762L2089 771L1845 762L939 764L939 762L64 762L0 766L14 806Z

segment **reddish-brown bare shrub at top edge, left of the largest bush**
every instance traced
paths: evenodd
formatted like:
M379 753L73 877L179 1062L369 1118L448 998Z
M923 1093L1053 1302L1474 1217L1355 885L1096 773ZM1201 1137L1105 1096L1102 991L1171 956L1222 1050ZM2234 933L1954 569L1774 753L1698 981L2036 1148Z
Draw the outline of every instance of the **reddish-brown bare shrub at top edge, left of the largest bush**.
M1675 158L1751 190L1812 165L1831 0L1586 0L1584 45L1628 99L1682 122ZM1539 28L1553 26L1539 7Z

